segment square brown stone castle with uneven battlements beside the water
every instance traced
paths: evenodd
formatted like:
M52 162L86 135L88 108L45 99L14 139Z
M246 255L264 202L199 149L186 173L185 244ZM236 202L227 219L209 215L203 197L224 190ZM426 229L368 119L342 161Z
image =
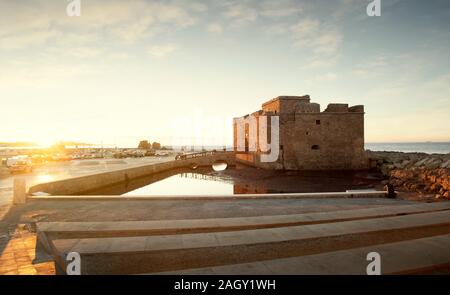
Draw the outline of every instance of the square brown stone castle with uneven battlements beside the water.
M274 116L278 117L279 135L271 132ZM267 128L260 128L261 119L268 121ZM279 138L279 145L271 147L276 157L262 161L270 151L262 149L260 141L273 144L274 134ZM364 106L331 103L321 112L308 95L279 96L264 103L262 110L235 118L234 149L238 162L265 169L367 169Z

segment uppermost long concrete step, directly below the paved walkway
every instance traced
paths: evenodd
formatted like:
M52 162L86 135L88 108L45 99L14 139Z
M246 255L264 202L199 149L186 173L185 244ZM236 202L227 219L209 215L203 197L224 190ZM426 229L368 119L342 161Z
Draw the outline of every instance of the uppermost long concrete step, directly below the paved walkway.
M51 241L68 238L131 237L184 233L220 232L258 228L318 224L336 221L380 218L396 215L450 210L450 202L386 206L320 213L254 216L238 218L152 220L120 222L40 222L39 242L51 252Z

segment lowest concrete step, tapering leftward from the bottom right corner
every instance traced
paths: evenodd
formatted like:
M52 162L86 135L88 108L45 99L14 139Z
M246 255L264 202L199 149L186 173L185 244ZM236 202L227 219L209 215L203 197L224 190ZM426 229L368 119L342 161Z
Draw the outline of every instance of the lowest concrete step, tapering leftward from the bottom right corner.
M365 275L377 252L381 274L420 274L450 266L450 235L374 245L323 254L290 257L198 269L159 273L163 275Z

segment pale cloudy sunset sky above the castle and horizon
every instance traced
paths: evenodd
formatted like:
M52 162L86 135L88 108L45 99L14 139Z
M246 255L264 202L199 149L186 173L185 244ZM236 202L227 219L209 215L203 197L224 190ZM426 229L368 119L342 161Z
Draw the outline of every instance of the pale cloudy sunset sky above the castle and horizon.
M0 0L0 141L230 144L305 94L365 105L366 142L450 141L450 1L71 2Z

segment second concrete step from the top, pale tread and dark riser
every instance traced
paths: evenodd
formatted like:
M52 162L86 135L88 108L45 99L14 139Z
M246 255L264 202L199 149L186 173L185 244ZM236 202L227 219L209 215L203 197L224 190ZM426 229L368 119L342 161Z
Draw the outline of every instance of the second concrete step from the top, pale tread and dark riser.
M450 214L441 211L231 232L62 239L53 241L53 251L60 269L66 267L67 253L78 252L84 274L145 273L300 256L448 233Z

